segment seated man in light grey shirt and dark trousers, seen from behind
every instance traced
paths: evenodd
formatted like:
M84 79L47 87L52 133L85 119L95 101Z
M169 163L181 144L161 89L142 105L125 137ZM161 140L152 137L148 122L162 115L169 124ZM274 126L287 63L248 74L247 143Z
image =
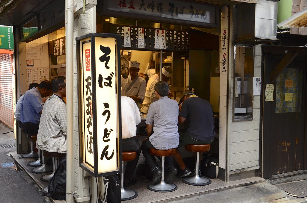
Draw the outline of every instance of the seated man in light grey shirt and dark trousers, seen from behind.
M177 148L179 143L177 125L179 108L175 100L167 97L169 94L167 82L157 82L154 86L154 93L158 101L150 104L145 122L148 139L143 141L141 149L150 170L153 172L153 183L157 183L162 176L162 170L158 167L157 161L150 154L149 149ZM173 167L171 157L165 157L165 172L167 173L165 182L171 181L172 176L177 174L177 169Z

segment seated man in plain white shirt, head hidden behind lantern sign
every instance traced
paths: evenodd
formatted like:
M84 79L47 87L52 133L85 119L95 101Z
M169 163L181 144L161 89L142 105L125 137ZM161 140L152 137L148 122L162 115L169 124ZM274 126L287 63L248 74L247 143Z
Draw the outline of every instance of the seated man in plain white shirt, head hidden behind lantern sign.
M141 123L141 116L138 106L134 100L122 96L122 151L136 151L137 157L132 161L128 161L125 171L124 187L134 185L137 180L132 178L135 167L138 164L138 158L140 156L140 144L135 138L136 136L136 125Z

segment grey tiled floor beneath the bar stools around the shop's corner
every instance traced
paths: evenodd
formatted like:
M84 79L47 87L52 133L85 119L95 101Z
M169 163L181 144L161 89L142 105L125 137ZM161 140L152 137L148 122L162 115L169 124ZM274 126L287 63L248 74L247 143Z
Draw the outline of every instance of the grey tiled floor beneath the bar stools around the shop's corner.
M33 174L30 170L33 167L27 166L27 163L31 162L33 159L23 159L18 154L11 154L11 156L15 159L15 161L25 170L26 173L37 183L40 188L47 186L47 182L42 182L40 177L45 174ZM249 185L253 182L262 181L263 178L260 177L253 177L253 178L246 178L242 180L231 181L229 183L225 183L219 179L211 179L212 183L207 186L192 186L187 185L182 182L181 178L175 178L173 181L174 184L177 185L178 189L173 192L168 193L160 193L160 192L153 192L146 188L147 184L150 182L145 177L139 177L138 183L131 186L130 189L133 189L138 192L138 197L134 198L133 200L122 201L124 203L149 203L149 202L169 202L179 199L184 199L188 197L199 196L206 193L212 193L217 191L228 190L230 188L239 187L243 185ZM64 201L56 201L53 202L64 202Z

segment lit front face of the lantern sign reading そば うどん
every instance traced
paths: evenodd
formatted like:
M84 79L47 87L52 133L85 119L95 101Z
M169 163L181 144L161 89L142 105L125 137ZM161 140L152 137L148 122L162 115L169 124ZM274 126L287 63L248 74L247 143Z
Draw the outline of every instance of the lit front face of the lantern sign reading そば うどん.
M116 170L115 40L95 37L98 172ZM98 84L98 85L97 85Z

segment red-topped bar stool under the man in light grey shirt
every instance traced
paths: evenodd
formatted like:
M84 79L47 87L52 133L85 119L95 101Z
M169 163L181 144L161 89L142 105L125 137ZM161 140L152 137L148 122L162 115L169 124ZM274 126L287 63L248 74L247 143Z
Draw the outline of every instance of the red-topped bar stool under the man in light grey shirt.
M177 185L173 183L166 183L164 181L164 157L165 156L173 156L176 155L177 149L168 149L168 150L160 150L151 148L149 150L151 155L154 156L162 156L162 177L161 182L158 182L156 184L150 183L147 185L147 189L155 192L172 192L177 190Z

